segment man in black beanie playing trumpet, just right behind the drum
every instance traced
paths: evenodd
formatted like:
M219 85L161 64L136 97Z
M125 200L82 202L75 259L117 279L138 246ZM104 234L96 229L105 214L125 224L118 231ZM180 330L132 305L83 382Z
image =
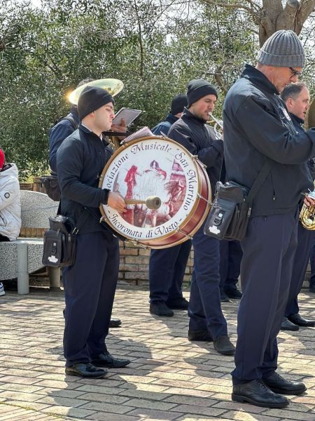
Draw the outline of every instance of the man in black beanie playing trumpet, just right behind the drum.
M188 109L169 129L169 138L197 155L207 166L207 174L214 192L220 178L223 161L223 141L217 139L214 129L207 125L218 93L204 79L188 83ZM235 347L228 337L228 328L220 300L219 241L204 234L204 224L193 236L194 271L188 306L189 340L213 341L219 354L232 355Z

